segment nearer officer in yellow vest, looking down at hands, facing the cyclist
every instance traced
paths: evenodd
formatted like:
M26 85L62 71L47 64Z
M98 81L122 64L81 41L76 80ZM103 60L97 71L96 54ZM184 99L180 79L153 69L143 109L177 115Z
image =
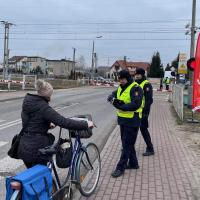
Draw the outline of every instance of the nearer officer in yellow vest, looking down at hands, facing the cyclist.
M139 168L134 145L142 118L143 98L142 89L127 70L119 72L119 81L118 89L108 96L108 101L117 109L122 140L121 157L111 174L115 178L121 176L127 168Z

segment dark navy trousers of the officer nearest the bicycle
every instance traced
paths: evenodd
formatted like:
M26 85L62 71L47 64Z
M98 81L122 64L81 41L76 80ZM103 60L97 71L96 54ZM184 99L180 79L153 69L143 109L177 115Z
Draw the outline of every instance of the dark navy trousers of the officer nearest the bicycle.
M128 160L130 165L138 165L138 160L135 152L135 142L137 139L138 129L139 128L137 127L127 127L120 125L122 151L120 160L117 164L117 169L119 170L125 170Z

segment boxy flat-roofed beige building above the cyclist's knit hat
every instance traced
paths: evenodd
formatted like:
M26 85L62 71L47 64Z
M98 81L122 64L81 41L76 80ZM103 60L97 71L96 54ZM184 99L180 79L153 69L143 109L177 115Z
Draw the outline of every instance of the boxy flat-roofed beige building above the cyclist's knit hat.
M75 66L75 62L66 59L46 60L46 65L49 74L53 74L55 77L68 78Z

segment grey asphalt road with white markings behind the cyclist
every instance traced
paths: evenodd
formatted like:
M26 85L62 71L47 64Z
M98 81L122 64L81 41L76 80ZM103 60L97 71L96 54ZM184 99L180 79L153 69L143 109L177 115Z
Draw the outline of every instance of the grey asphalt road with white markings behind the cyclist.
M93 141L102 150L109 134L116 125L114 109L106 102L113 88L75 88L57 90L53 94L51 106L65 117L89 113L97 125L87 143ZM20 160L7 156L13 136L21 130L21 106L23 99L0 102L0 199L5 198L5 176L24 169ZM51 131L58 135L59 128Z

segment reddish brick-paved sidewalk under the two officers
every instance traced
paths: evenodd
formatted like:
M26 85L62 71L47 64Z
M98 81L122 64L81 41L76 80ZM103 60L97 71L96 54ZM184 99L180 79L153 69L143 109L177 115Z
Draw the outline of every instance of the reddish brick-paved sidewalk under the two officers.
M112 178L120 156L119 127L110 136L103 152L102 172L98 188L90 197L81 200L192 200L199 192L198 175L191 166L195 159L175 135L175 119L166 95L155 92L150 116L150 133L155 155L143 157L145 145L139 133L136 152L140 168L126 170L119 178Z

